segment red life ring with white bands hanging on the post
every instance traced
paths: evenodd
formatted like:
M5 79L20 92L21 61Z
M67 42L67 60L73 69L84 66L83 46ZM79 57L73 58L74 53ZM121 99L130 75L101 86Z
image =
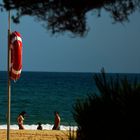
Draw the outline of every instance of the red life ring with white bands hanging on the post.
M10 78L17 80L22 70L22 39L19 32L13 32L10 35L11 48L11 71Z

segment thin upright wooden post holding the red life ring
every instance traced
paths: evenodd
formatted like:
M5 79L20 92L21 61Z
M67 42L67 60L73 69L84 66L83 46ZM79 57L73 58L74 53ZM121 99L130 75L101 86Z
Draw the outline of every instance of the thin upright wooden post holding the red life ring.
M11 114L11 81L10 81L10 11L8 13L8 57L7 57L7 72L8 72L8 110L7 110L7 140L10 140L10 114Z

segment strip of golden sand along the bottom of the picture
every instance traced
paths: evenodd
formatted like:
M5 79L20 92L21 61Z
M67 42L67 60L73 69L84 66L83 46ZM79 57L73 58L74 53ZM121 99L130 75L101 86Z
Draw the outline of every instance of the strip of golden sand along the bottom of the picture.
M0 130L0 139L7 139L7 130ZM10 130L10 140L69 140L69 131Z

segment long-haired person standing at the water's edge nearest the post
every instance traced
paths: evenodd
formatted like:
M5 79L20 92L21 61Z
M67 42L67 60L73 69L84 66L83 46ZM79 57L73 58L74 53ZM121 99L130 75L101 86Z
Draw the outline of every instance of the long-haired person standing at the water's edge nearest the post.
M19 129L24 129L23 121L24 121L25 114L26 112L22 111L17 117L17 123L18 123Z

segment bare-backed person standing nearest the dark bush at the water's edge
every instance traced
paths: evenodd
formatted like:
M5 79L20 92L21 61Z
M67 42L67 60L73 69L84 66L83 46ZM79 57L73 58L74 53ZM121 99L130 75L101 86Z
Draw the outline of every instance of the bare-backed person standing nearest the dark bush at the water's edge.
M58 112L54 112L55 118L54 118L54 126L52 130L60 130L60 116Z

